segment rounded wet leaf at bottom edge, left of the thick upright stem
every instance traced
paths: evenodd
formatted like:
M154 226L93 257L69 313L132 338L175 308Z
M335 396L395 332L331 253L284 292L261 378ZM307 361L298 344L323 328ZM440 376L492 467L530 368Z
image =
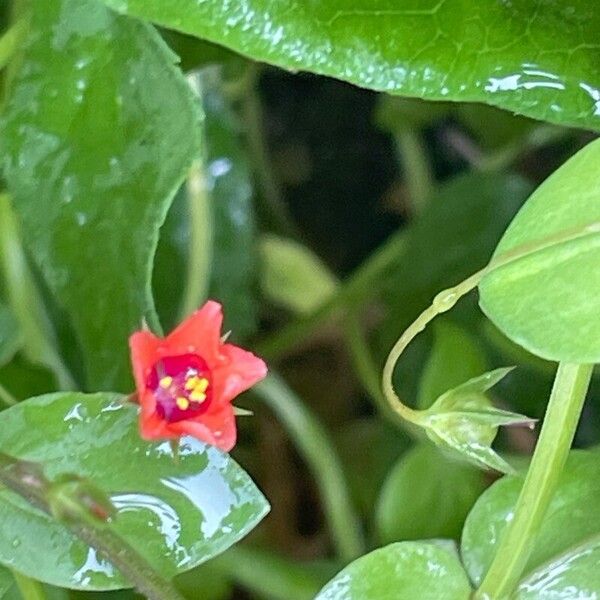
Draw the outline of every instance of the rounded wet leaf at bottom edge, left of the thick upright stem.
M315 600L468 600L470 595L453 544L401 542L350 563Z

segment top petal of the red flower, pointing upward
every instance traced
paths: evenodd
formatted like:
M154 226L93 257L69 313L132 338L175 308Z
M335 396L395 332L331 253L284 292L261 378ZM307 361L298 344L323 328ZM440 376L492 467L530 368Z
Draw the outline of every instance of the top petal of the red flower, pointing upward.
M218 356L222 324L221 305L209 300L165 338L164 346L171 355L199 354L211 366Z

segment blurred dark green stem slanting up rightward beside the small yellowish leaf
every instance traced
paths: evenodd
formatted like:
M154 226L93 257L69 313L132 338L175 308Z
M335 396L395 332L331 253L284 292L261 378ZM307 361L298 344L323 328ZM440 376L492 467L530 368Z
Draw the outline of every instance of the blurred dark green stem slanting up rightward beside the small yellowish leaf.
M404 254L406 242L405 231L392 235L342 283L337 294L328 302L256 344L256 351L269 360L276 360L310 337L324 322L344 314L348 306L364 303L373 297L380 288L378 284L384 273Z

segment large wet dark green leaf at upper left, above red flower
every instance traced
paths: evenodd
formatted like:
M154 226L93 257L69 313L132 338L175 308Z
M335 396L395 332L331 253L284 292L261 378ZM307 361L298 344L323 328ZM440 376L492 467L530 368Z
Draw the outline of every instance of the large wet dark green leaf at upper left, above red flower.
M198 111L151 27L93 0L32 5L1 123L5 175L87 387L124 390L127 336L156 322L158 228L198 153Z

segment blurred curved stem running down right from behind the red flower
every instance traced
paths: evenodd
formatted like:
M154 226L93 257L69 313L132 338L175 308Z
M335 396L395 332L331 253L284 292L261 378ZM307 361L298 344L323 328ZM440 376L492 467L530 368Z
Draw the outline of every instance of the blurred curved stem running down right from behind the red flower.
M360 522L328 432L280 377L271 374L254 390L283 423L312 470L340 558L349 562L360 556Z

